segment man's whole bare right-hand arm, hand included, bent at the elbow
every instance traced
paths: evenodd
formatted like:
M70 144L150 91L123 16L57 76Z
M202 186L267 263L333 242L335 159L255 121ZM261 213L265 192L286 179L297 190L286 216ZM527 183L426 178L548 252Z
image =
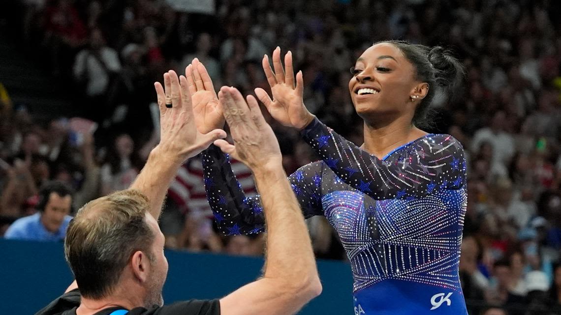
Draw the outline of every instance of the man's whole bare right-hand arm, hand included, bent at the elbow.
M304 216L282 166L277 139L252 96L233 87L219 94L234 146L214 143L254 172L265 212L264 275L220 299L221 315L288 315L321 293Z

